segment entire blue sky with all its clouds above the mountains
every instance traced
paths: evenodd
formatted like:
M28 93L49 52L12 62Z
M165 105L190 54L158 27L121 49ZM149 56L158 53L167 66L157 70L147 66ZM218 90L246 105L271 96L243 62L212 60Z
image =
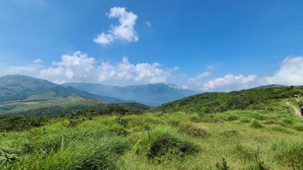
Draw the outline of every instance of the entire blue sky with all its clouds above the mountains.
M302 8L301 1L0 0L0 75L199 91L303 85Z

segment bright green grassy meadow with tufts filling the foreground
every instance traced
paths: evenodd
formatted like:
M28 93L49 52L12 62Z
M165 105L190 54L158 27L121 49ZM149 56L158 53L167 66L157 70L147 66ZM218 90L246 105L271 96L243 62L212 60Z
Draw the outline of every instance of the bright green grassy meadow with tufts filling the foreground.
M58 117L0 133L0 169L302 169L302 136L287 106Z

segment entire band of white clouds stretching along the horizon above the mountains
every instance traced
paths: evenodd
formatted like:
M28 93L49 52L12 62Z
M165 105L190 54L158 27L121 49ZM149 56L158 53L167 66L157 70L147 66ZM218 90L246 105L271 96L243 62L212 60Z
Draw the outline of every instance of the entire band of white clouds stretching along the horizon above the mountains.
M200 91L233 91L253 88L261 85L303 85L303 56L288 56L273 75L259 77L251 75L227 74L218 78L211 78L211 72L198 74L196 77L184 79L185 74L175 73L179 67L163 69L159 63L131 64L127 57L118 63L99 62L87 53L76 51L61 56L61 61L53 62L51 67L41 65L42 60L36 59L25 66L4 67L0 64L3 74L27 74L53 81L92 82L112 85L130 85L145 83L169 83L179 81L184 88ZM35 77L35 76L34 76ZM183 79L183 80L182 80Z

